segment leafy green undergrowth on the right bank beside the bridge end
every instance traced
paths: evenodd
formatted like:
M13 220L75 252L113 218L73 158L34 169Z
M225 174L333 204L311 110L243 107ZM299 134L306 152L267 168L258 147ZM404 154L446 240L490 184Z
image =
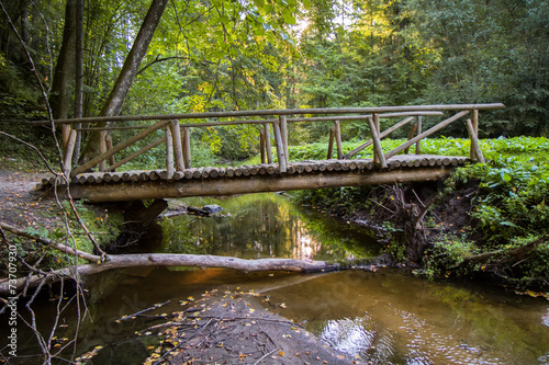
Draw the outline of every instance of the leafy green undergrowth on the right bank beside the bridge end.
M523 140L547 152L547 140ZM519 150L520 146L498 142L502 149ZM534 145L536 147L534 147ZM542 287L549 271L549 164L547 155L530 159L500 158L486 164L458 169L447 181L447 193L469 181L478 181L473 199L472 229L459 244L444 239L435 244L426 260L427 267L459 269L463 273L490 271L507 277L520 287ZM477 243L473 243L473 239ZM513 252L541 240L526 256ZM469 248L470 250L461 250ZM477 265L461 263L473 254L492 252L493 259Z

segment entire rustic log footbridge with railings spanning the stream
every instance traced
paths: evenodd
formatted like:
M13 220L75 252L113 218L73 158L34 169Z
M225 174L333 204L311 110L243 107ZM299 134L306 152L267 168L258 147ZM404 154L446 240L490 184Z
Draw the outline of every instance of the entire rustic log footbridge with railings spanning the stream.
M63 125L64 173L68 176L69 191L74 198L116 202L434 181L447 176L452 169L470 161L484 162L478 139L479 111L503 107L503 104L495 103L265 110L88 117L43 121L34 124ZM446 113L451 115L441 117ZM442 121L424 132L424 118L435 116ZM384 122L384 126L390 126L381 130L381 119L394 121L395 118L399 118L395 123ZM464 118L463 124L471 141L469 156L422 155L422 139L439 133L442 128L462 118ZM150 123L153 121L154 124ZM341 124L347 121L365 122L368 125L370 138L358 148L344 155ZM148 122L148 124L144 122ZM288 126L291 123L304 122L333 124L329 129L325 160L291 160ZM102 126L94 127L93 123L99 123ZM123 126L121 125L123 123L132 125ZM146 125L135 125L136 123ZM86 127L81 127L81 125ZM258 129L261 163L238 167L192 167L191 129L234 125L254 125ZM405 126L410 127L407 140L390 151L384 151L381 139ZM141 132L116 146L112 145L112 133L132 129L141 129ZM100 151L88 162L74 167L75 141L78 134L83 132L100 134ZM114 157L121 155L124 149L144 139L150 140L152 137L157 139L115 161ZM229 144L231 141L224 142ZM141 144L143 145L143 142ZM358 152L370 146L371 157L356 158ZM415 146L414 155L408 153L412 146ZM334 147L336 158L333 158ZM154 148L166 150L165 168L123 171L125 163ZM42 184L63 185L63 182L60 179L52 178L44 180ZM66 189L61 189L59 193L66 191Z

